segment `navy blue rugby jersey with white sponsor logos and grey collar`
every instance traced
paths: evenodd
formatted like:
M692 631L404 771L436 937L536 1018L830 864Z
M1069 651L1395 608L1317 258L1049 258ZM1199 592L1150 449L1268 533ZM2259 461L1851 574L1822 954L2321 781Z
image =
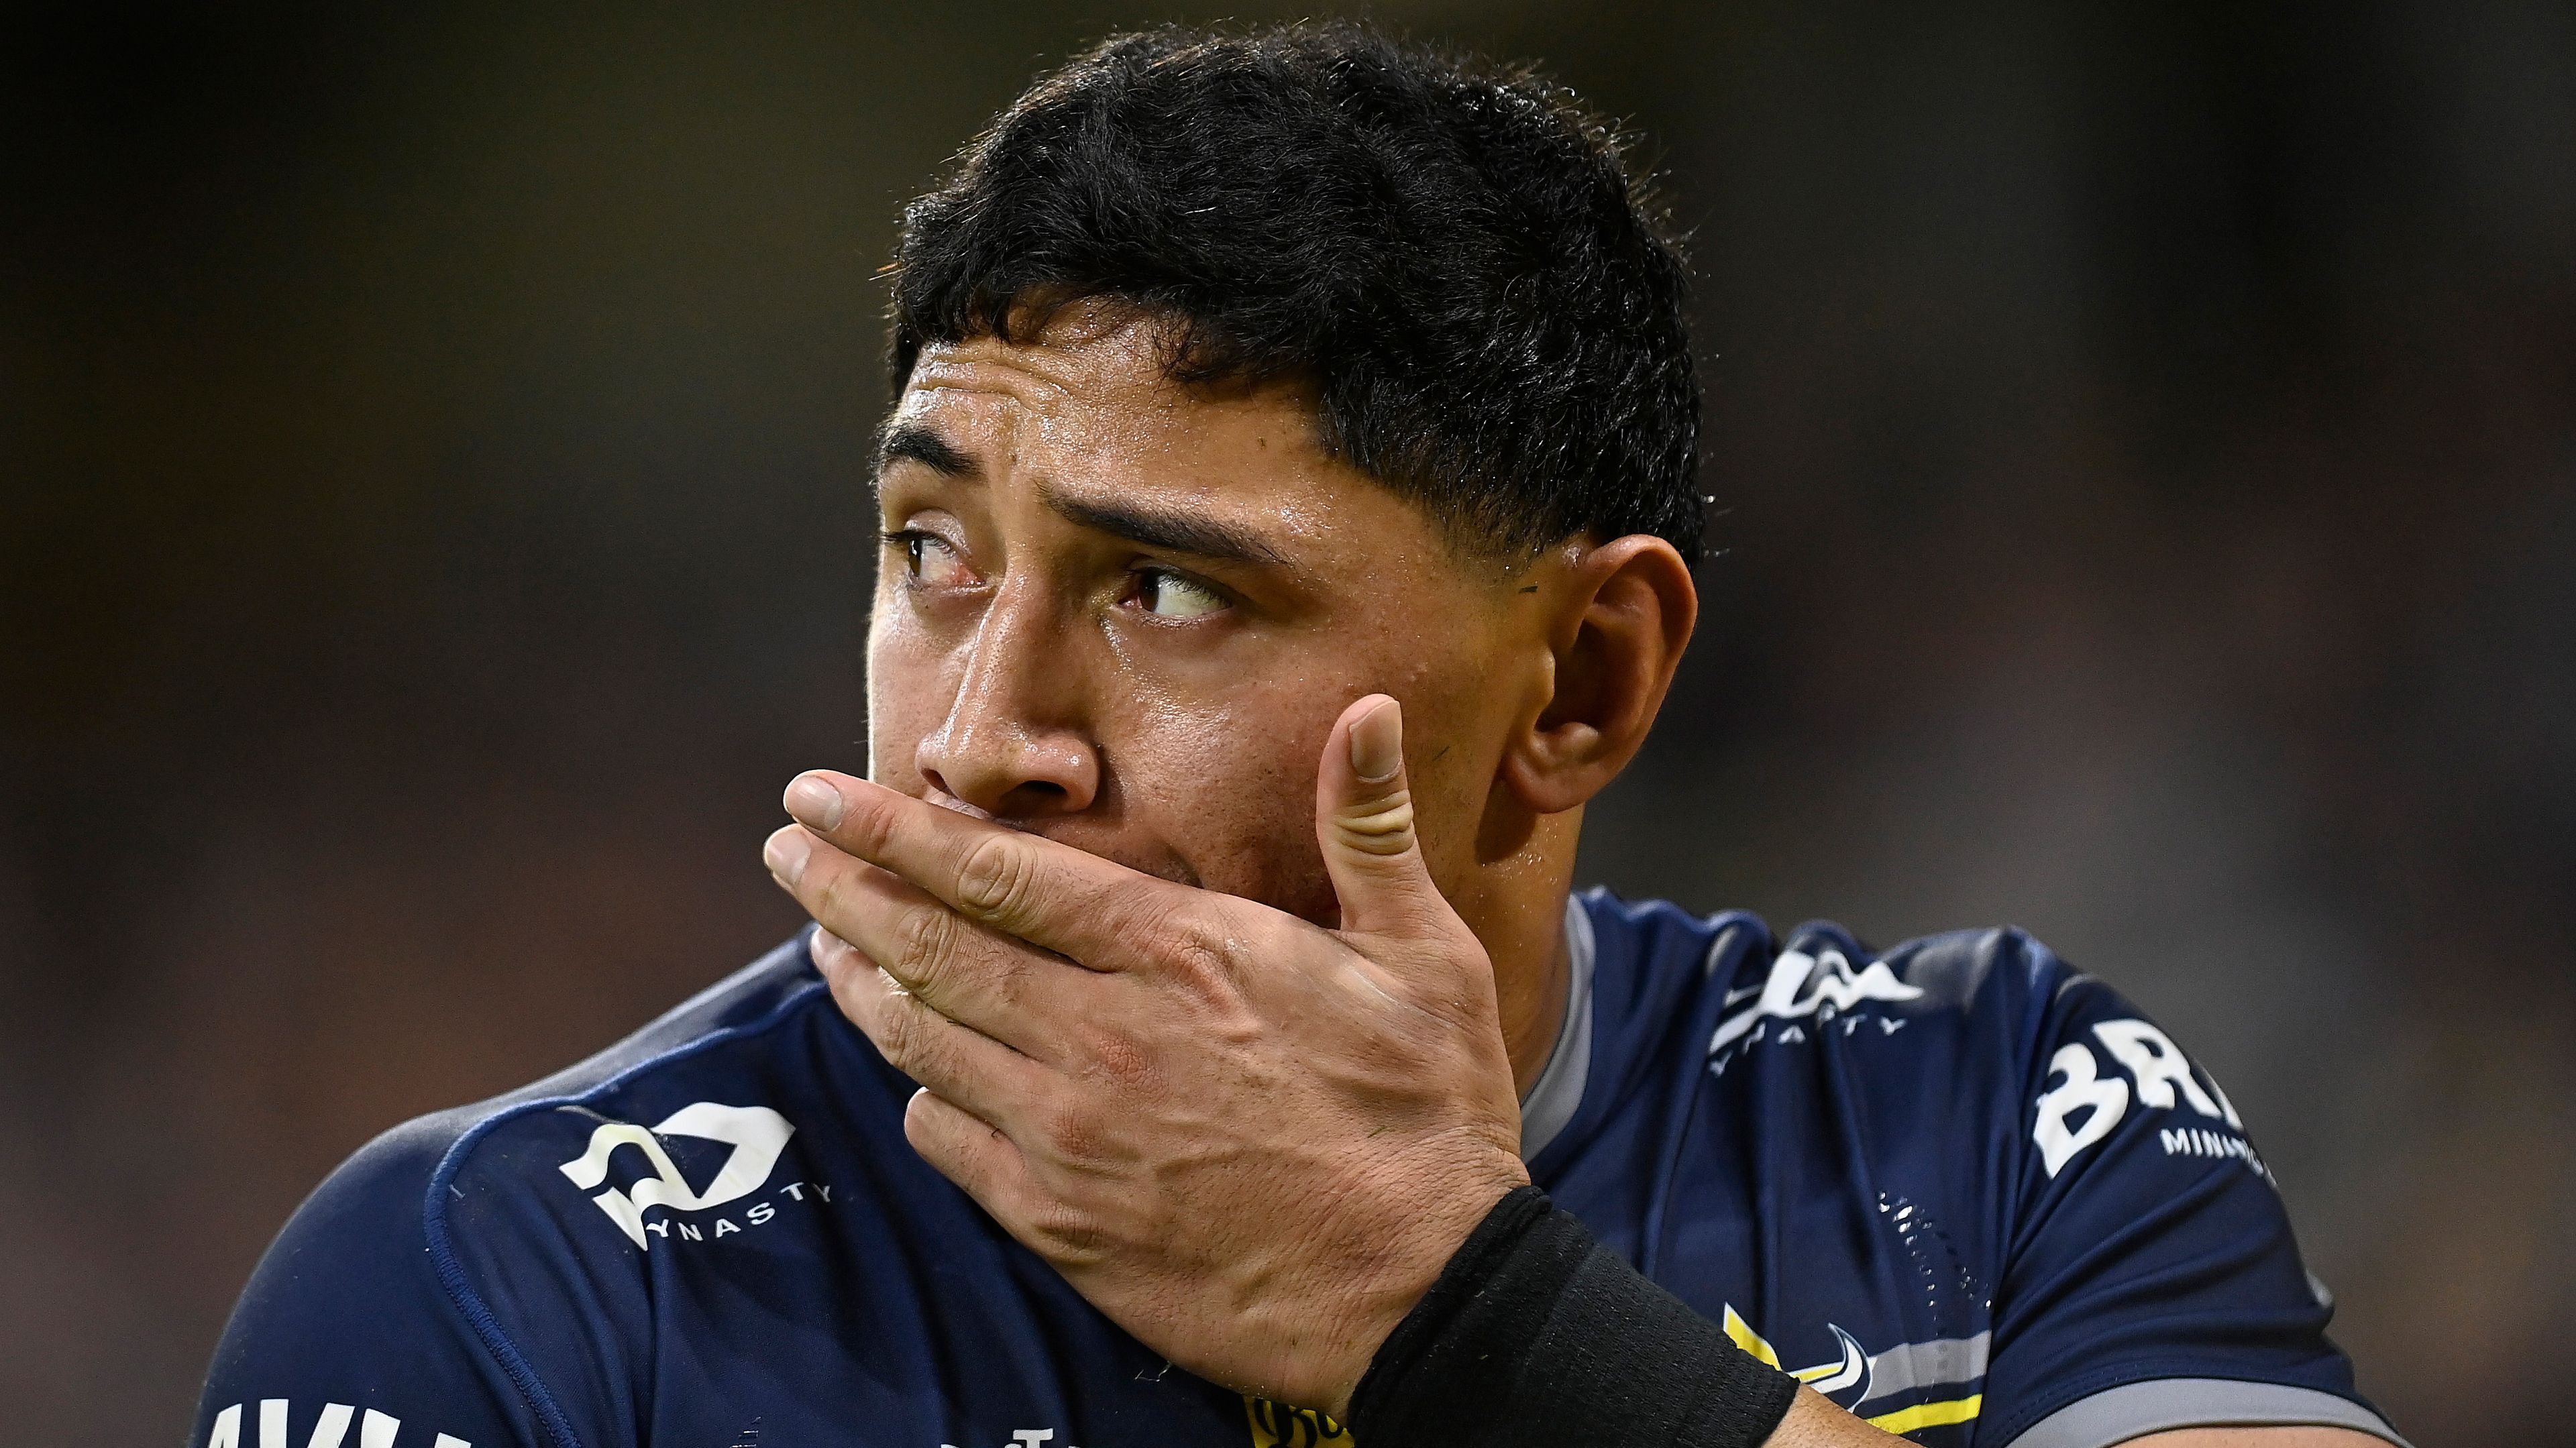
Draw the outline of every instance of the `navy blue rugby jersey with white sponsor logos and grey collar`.
M2396 1433L2272 1177L2161 1031L2017 930L1589 894L1522 1103L1600 1239L1927 1445ZM358 1152L216 1350L191 1448L1146 1448L1345 1438L1167 1366L904 1141L791 943L616 1049Z

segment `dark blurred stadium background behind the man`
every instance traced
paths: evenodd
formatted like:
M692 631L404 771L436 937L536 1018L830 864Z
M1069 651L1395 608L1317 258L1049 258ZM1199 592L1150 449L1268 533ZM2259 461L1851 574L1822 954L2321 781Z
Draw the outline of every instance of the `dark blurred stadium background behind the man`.
M1695 234L1723 557L1587 879L2032 928L2228 1085L2401 1427L2563 1440L2576 10L1381 15L1546 59ZM1154 18L8 23L13 1440L175 1443L343 1154L796 925L894 211Z

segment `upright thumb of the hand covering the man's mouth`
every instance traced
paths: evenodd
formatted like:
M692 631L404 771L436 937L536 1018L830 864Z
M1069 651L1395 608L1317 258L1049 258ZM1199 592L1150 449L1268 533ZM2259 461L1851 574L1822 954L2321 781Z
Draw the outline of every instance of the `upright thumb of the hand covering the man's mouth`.
M1332 724L1314 778L1314 835L1345 933L1432 935L1455 920L1414 837L1404 706L1394 698L1370 693Z

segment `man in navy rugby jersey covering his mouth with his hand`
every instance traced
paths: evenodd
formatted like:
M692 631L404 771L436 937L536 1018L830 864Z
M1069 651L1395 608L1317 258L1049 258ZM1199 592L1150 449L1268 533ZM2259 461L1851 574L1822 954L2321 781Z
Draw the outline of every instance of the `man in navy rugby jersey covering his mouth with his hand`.
M1700 500L1561 93L1110 41L912 206L891 361L819 930L335 1172L193 1443L2398 1440L2102 984L1571 897Z

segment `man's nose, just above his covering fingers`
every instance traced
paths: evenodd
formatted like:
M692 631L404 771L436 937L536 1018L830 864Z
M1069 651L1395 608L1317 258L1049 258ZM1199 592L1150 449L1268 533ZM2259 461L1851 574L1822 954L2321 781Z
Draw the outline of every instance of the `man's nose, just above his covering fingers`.
M912 752L930 788L994 819L1077 814L1100 794L1100 750L1048 613L1033 587L1002 585L966 642L948 716Z

